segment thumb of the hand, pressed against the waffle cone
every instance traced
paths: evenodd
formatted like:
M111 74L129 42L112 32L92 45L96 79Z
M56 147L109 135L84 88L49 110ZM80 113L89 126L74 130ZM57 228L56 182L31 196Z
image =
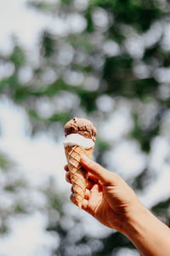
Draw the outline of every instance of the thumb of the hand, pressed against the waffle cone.
M86 171L94 174L94 176L97 177L101 183L103 183L104 185L113 185L113 172L107 171L105 168L103 168L93 160L90 160L86 155L81 156L80 162L82 164L82 167Z

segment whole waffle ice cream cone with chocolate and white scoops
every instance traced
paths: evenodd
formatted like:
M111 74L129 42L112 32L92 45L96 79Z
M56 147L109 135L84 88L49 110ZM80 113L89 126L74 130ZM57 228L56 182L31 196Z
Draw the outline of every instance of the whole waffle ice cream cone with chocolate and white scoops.
M65 124L65 155L71 176L71 183L77 206L82 208L88 172L83 169L80 159L85 154L92 158L96 136L96 128L88 119L71 119Z

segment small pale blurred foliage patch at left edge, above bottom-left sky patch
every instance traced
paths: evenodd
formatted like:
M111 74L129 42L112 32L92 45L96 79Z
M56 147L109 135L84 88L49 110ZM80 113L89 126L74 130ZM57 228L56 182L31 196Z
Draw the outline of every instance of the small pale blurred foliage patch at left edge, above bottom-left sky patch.
M26 180L17 172L14 161L2 152L0 152L0 184L0 236L2 236L9 231L9 218L30 212L22 196L22 193L28 189Z

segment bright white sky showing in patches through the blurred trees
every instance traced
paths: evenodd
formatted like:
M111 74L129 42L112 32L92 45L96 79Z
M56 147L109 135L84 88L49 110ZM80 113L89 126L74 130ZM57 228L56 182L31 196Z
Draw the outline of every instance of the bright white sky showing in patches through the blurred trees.
M37 14L36 11L27 9L25 3L24 0L3 1L0 9L0 52L10 52L12 34L15 34L20 43L25 45L27 49L32 50L37 47L37 36L42 28L48 27L57 33L67 31L68 27L63 24L62 20ZM77 17L78 19L81 20L81 17ZM75 25L74 22L71 24L72 29L77 30L77 32L81 31L77 24ZM110 108L110 106L108 105L106 108ZM110 127L114 127L113 140L120 139L125 132L131 129L132 123L127 124L128 114L126 106L120 106L111 117L110 122L103 125L101 131L105 134L106 139L111 132L105 131L108 131ZM59 183L59 189L67 191L69 197L71 188L68 183L65 183L65 172L63 172L63 166L66 163L63 149L64 136L60 138L58 143L45 133L39 133L33 139L29 137L31 127L25 110L14 105L6 96L0 96L0 122L2 133L0 150L17 161L23 175L34 185L45 183L48 175L53 175ZM124 129L125 126L127 130ZM156 181L150 184L143 195L139 195L147 207L166 198L170 193L170 172L169 166L166 164L166 157L170 148L166 138L156 137L153 148L154 150L150 153L150 166L156 173ZM133 177L134 173L141 172L146 160L146 156L141 153L138 143L124 140L116 145L113 152L106 156L107 158L113 160L117 166L117 172L125 178ZM53 247L57 238L49 236L44 231L46 221L46 218L39 212L20 220L14 220L11 223L11 235L0 240L0 256L48 255L48 251L45 252L45 250L42 254L42 245ZM88 223L88 230L91 228L94 236L95 232L96 234L107 233L107 230L93 222L92 218L88 219ZM85 226L87 227L87 225ZM127 252L126 255L128 255ZM129 255L132 256L132 252Z

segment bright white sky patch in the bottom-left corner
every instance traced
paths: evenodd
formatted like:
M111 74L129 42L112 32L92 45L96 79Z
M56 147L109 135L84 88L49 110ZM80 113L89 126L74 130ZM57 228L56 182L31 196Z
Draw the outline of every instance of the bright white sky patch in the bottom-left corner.
M10 236L0 240L1 256L48 256L48 247L55 247L59 239L45 232L45 218L38 212L11 223Z

